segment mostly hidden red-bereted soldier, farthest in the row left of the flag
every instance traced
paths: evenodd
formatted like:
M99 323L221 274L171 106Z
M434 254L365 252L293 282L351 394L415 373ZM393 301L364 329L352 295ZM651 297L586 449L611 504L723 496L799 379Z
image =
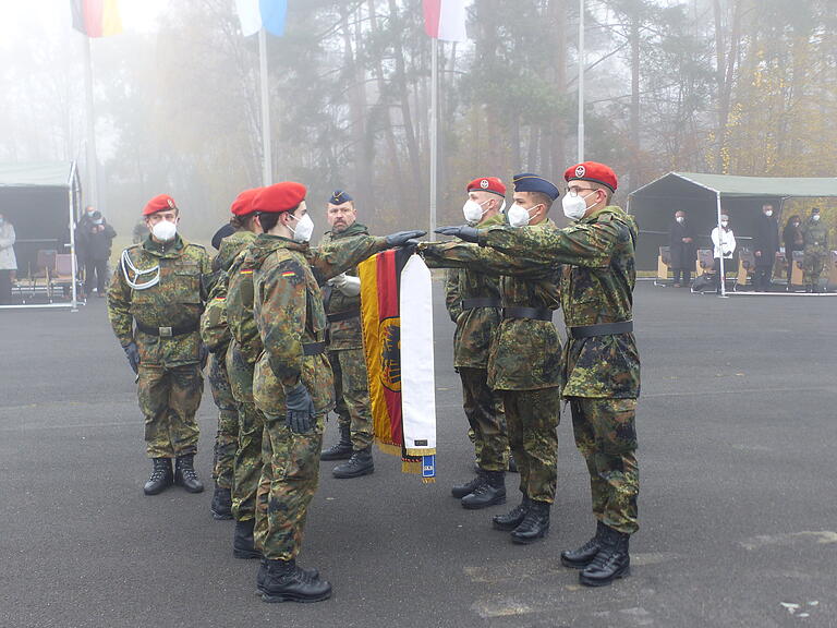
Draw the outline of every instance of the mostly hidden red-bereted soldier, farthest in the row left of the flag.
M239 402L232 394L227 372L227 351L231 335L227 317L228 271L236 255L254 239L236 212L250 206L257 190L245 190L232 203L233 218L213 237L218 255L213 261L213 279L207 282L209 301L201 316L201 338L211 353L209 387L218 407L213 480L215 494L210 510L215 519L232 519L234 459L239 448ZM252 221L251 221L252 222Z

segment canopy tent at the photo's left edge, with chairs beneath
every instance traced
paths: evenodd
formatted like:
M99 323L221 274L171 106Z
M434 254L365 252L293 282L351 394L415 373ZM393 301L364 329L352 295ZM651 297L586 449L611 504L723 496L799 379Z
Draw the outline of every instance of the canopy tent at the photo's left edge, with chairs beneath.
M19 277L37 268L38 251L72 254L73 277L77 275L73 226L81 212L82 188L74 161L0 164L0 213L15 231L14 252ZM77 306L76 282L70 302L48 305L73 310ZM11 305L43 307L44 303Z

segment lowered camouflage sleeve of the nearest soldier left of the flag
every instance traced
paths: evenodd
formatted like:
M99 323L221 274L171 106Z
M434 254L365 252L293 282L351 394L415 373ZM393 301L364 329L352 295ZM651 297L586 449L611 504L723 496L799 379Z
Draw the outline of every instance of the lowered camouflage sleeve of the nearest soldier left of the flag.
M265 278L262 339L270 369L286 392L302 376L305 293L305 271L295 259L279 262Z

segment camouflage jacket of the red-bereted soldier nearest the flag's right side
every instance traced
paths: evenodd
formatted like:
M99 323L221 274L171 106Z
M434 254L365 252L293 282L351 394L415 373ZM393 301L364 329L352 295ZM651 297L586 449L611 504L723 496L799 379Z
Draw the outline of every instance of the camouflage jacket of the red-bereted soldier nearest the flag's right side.
M504 222L501 215L494 216L481 222L480 228ZM499 303L499 277L470 268L449 268L445 280L445 303L450 319L457 324L453 334L453 366L487 369L492 340L502 321L502 314L499 306L465 310L462 305L464 299L493 299Z

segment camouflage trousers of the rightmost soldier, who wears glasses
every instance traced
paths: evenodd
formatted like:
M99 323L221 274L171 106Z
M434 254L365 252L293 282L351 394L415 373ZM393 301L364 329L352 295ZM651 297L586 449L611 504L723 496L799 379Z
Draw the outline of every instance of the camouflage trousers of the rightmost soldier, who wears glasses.
M593 514L605 526L633 534L639 529L636 496L636 399L571 397L575 446L590 473Z

